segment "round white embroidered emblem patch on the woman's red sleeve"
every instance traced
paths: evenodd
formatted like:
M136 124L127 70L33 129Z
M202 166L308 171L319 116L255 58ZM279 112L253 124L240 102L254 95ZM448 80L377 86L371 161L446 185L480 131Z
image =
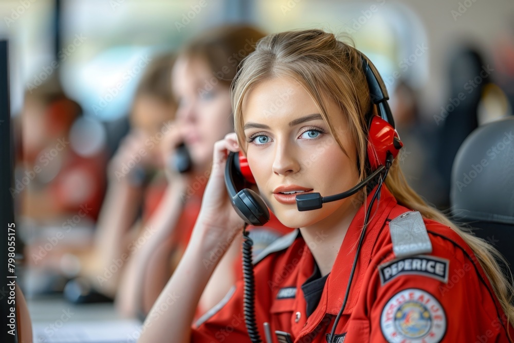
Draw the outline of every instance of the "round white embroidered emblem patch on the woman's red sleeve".
M391 343L438 343L446 333L446 314L430 293L408 288L396 293L384 306L380 328Z

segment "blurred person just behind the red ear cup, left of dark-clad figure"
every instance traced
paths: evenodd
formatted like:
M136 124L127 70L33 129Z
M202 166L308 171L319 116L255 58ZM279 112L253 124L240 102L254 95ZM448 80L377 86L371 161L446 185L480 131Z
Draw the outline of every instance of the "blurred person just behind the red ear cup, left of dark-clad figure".
M436 135L433 121L423 120L417 92L406 81L399 80L391 100L396 131L405 144L398 156L399 165L409 186L432 204L444 201L442 183L435 170Z

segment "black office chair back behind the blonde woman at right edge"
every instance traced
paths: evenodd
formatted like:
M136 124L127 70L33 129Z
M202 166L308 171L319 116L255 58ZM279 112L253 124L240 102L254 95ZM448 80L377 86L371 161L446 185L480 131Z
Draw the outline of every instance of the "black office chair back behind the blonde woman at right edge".
M455 222L476 228L514 272L514 117L485 124L464 140L453 161L450 201Z

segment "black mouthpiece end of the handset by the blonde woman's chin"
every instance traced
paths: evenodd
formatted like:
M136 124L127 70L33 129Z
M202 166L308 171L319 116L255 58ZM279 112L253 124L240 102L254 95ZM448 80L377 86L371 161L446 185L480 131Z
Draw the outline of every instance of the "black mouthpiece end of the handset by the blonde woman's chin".
M233 198L236 212L248 224L253 226L263 226L269 221L268 207L251 189L245 188L237 192Z

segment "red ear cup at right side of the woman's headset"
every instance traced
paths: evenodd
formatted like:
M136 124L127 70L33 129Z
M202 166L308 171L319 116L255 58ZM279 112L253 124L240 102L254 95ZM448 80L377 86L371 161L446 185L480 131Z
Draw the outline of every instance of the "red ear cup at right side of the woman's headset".
M388 153L395 158L403 143L398 133L386 120L373 116L368 135L368 161L372 170L386 165Z

